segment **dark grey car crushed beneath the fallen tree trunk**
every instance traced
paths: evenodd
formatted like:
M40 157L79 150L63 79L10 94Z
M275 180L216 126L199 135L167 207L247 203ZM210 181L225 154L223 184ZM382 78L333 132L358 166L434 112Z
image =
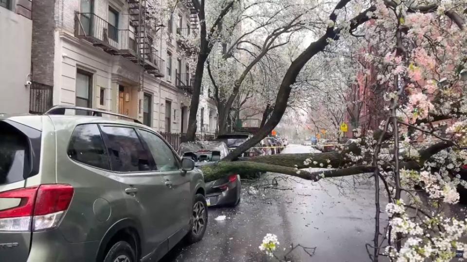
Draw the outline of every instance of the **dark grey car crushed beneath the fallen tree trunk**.
M177 153L182 158L195 161L196 166L213 164L223 159L229 148L222 141L181 143ZM242 185L238 174L226 174L224 178L206 183L208 206L236 206L240 202Z

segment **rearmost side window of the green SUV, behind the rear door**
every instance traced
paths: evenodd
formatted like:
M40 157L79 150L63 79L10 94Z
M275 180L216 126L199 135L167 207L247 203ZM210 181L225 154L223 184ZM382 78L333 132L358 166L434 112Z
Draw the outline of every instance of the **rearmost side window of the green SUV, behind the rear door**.
M68 156L77 162L110 170L105 148L96 124L79 125L70 139Z

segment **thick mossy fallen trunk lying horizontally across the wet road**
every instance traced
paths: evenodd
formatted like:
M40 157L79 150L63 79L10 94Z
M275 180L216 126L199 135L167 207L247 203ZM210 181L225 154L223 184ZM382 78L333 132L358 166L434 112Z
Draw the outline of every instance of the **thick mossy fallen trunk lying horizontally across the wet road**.
M381 141L385 141L389 137L382 135L382 131L377 131L374 137L381 137ZM452 147L452 142L438 142L430 147L419 150L420 159L414 160L401 160L400 168L407 170L420 170L424 163L430 159L434 154L437 154L443 149ZM298 177L305 180L317 181L321 178L330 177L343 177L362 173L374 172L374 166L366 166L352 163L348 158L348 153L352 152L354 155L360 154L360 148L356 144L352 144L348 149L343 150L341 153L337 151L325 153L303 153L303 154L278 154L268 156L258 156L251 158L239 159L238 161L220 161L211 165L203 165L199 167L203 171L205 181L213 181L223 178L228 174L251 171L260 172L273 172L279 174L286 174ZM364 155L363 160L371 163L372 155ZM305 164L305 163L309 164ZM327 169L317 172L308 172L306 170L299 170L307 167L328 167L335 169ZM391 163L383 166L383 169L390 171L393 170Z

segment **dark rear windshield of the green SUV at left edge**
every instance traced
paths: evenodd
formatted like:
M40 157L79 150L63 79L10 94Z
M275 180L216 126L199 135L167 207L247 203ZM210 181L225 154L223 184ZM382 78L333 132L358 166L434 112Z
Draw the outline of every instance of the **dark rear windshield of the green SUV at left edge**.
M0 185L24 180L30 172L28 137L12 125L0 121Z

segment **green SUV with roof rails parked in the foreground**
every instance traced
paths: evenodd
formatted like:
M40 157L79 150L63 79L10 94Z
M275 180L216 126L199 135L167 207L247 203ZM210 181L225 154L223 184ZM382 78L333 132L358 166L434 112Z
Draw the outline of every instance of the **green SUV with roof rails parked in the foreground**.
M207 205L193 161L136 120L83 112L116 115L55 107L0 118L0 261L157 261L183 238L201 240Z

